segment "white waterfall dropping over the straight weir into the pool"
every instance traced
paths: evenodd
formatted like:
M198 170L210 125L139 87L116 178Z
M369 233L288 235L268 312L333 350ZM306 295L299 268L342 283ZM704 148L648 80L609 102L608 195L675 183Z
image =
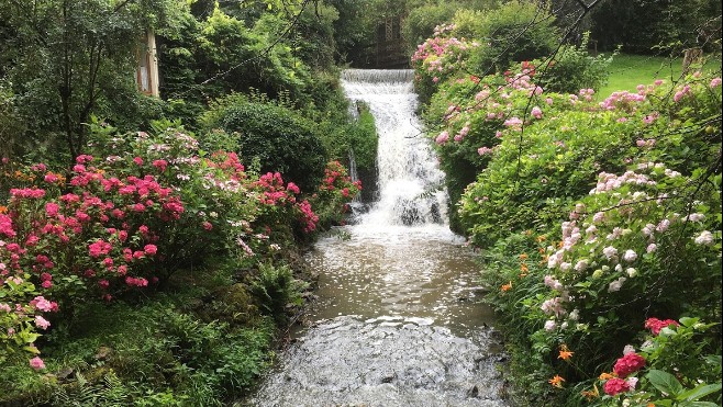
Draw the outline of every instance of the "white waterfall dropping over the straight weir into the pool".
M342 86L353 102L369 106L379 134L379 200L364 225L446 224L444 173L415 114L411 69L347 69Z

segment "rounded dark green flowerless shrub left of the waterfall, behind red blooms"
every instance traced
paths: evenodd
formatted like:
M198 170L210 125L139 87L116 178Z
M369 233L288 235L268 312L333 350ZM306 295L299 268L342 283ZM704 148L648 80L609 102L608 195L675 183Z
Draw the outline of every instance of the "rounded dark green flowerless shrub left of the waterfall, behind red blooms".
M326 151L314 124L288 105L232 95L205 117L207 128L237 133L238 152L258 160L262 172L280 172L303 191L313 191L321 180Z

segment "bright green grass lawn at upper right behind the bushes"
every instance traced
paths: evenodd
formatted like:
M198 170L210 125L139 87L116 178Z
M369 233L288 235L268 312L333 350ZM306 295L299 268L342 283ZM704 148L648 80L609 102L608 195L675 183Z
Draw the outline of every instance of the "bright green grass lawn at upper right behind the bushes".
M703 70L720 72L721 57L709 58ZM678 80L681 72L682 59L680 58L620 54L613 58L610 65L608 84L602 87L598 94L600 98L607 98L614 91L635 91L635 87L638 84L649 84L656 79Z

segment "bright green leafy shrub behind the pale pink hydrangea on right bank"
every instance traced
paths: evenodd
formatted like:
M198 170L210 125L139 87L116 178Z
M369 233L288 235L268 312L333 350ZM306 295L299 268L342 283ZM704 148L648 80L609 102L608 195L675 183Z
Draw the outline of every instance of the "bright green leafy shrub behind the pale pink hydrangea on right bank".
M715 132L705 134L704 127L720 91L704 80L690 79L688 88L676 88L690 93L670 105L665 98L674 92L663 84L641 86L638 93L613 93L600 105L592 103L588 91L531 101L545 106L538 108L542 120L530 117L522 139L519 126L501 133L500 146L489 150L489 167L463 200L460 213L472 240L486 246L509 231L545 230L570 200L589 191L599 169L619 171L624 161L642 156L665 159L681 170L705 165L703 157L715 154ZM686 103L696 104L699 114L692 115ZM680 114L686 114L685 122ZM696 131L685 138L668 133L689 127ZM692 151L705 154L696 157Z

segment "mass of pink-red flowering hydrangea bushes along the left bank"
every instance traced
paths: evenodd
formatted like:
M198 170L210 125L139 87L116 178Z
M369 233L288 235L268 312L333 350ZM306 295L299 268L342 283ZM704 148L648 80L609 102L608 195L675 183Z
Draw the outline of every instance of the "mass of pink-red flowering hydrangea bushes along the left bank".
M155 134L93 125L88 150L100 158L79 156L66 176L44 165L11 174L18 188L0 206L0 338L13 358L38 353L37 330L51 326L42 313L59 309L63 320L214 256L254 265L293 237L286 229L315 229L319 217L293 183L278 173L253 179L234 152L201 151L168 125ZM344 200L315 196L322 207ZM44 369L40 358L30 363Z

